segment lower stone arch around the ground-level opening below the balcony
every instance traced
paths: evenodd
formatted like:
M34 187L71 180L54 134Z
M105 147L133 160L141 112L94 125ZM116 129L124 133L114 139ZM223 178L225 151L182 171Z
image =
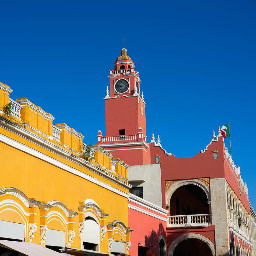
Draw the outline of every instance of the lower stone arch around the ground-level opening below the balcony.
M196 233L183 234L183 235L179 236L178 238L176 238L168 248L168 256L173 255L174 250L178 244L180 244L181 242L183 242L187 239L193 239L193 238L199 239L199 240L203 241L204 243L206 243L212 252L212 256L215 256L215 246L212 243L212 241L210 239L208 239L207 237L200 235L200 234L196 234Z

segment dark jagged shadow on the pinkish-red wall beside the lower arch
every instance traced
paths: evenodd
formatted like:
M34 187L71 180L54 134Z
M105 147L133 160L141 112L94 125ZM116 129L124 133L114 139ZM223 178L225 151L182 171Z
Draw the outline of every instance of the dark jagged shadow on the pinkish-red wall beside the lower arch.
M149 248L150 256L158 256L158 241L159 237L163 235L164 236L164 242L166 243L166 230L162 223L159 223L159 227L157 232L155 230L152 230L150 234L145 236L145 244L144 246Z

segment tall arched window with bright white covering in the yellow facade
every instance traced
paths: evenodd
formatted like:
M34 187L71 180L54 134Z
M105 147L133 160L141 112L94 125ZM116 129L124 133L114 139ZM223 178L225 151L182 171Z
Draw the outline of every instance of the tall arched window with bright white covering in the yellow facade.
M98 251L100 244L100 226L91 217L85 218L83 249Z

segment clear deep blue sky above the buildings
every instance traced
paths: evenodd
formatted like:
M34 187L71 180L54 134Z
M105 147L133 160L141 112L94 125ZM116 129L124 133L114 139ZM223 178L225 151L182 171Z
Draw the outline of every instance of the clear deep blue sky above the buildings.
M0 81L96 143L108 70L140 72L147 134L196 155L230 120L232 156L256 207L255 1L1 1ZM125 111L125 110L124 110Z

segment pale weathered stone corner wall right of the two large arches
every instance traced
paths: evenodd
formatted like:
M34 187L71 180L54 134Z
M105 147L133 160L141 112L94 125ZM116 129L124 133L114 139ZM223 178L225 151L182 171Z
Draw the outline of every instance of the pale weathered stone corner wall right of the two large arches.
M229 255L228 208L225 178L210 179L212 225L215 225L216 256Z

